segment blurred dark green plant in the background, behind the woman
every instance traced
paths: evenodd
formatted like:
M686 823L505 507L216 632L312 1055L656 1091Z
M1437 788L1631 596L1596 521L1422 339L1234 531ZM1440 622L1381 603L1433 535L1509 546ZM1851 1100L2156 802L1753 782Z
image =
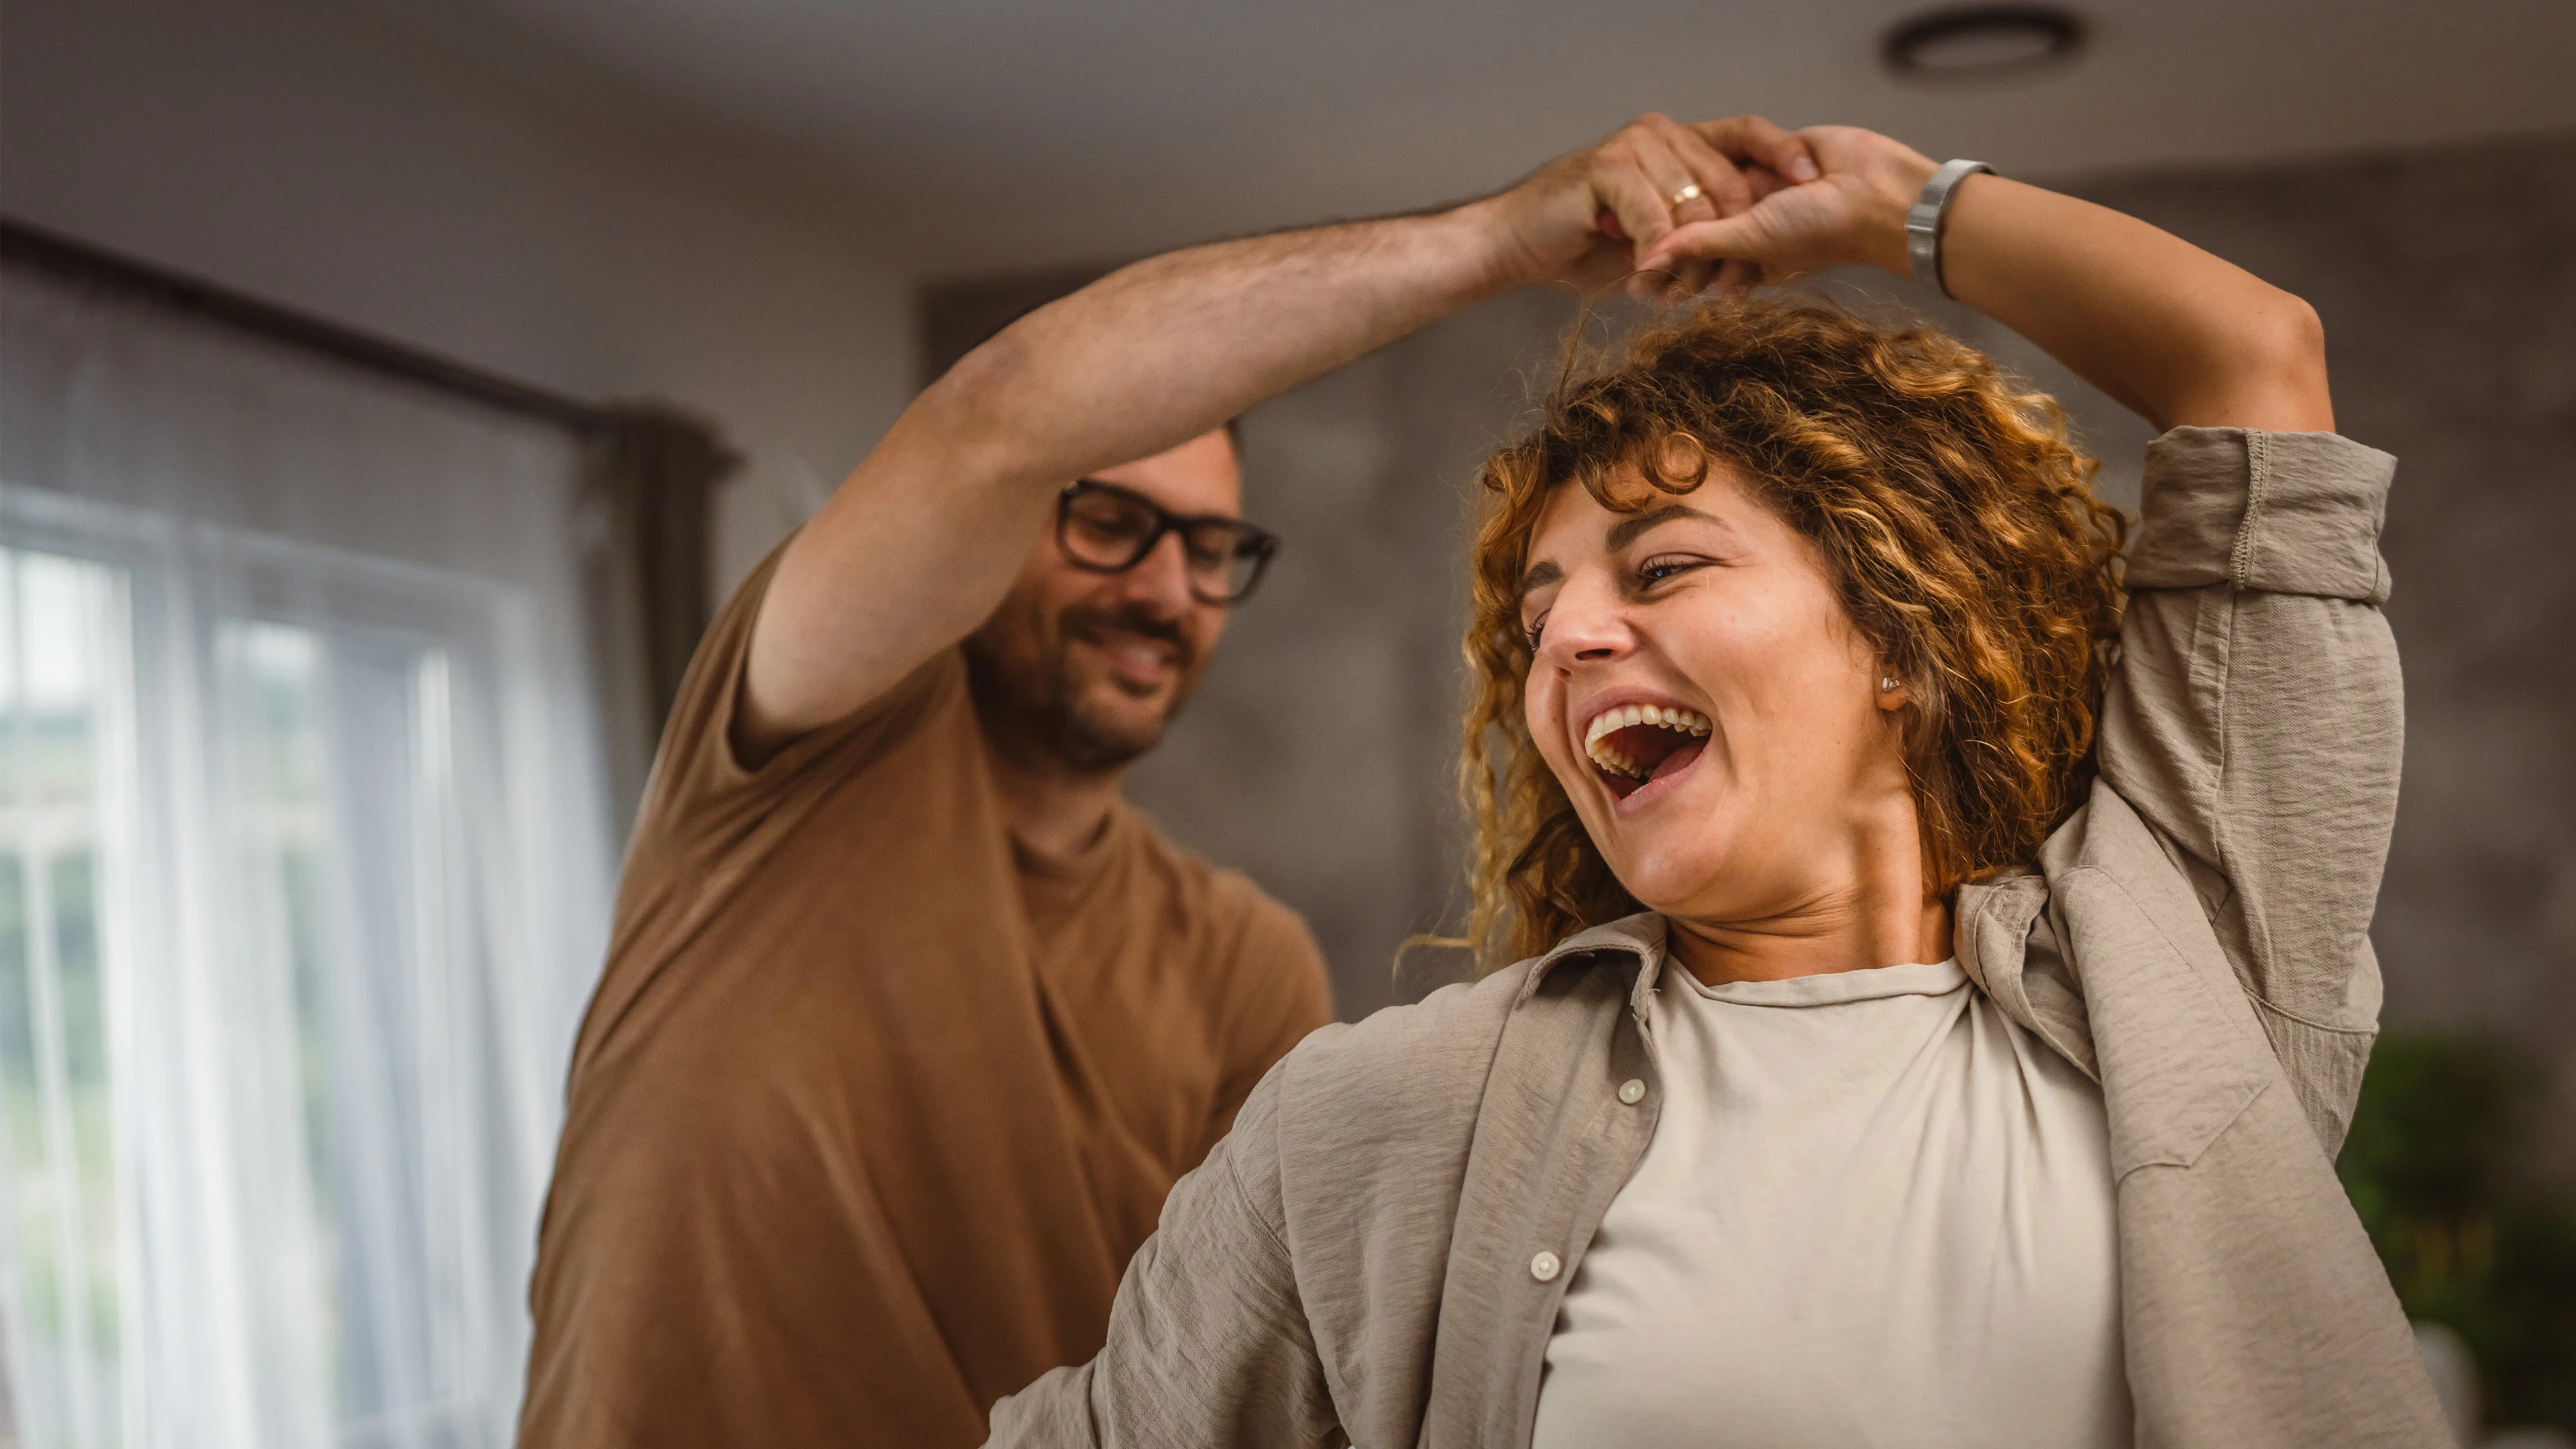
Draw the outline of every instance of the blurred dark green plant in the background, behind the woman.
M2576 1183L2535 1163L2545 1080L2491 1034L2388 1031L2336 1171L2406 1315L2476 1359L2486 1421L2576 1434Z

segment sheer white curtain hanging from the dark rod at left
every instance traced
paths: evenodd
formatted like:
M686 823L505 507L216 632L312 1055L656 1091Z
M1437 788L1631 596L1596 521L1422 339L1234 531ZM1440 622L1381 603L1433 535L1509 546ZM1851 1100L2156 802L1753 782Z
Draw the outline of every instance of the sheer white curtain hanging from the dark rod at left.
M507 1444L613 874L577 462L0 268L26 1444Z

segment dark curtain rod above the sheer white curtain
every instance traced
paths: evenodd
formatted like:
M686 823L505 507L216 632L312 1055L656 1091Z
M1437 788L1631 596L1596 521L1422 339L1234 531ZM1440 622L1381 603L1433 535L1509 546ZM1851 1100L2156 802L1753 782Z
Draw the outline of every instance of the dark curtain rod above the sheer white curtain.
M116 255L90 242L31 227L15 217L0 217L0 263L46 271L75 284L124 291L175 312L206 317L242 333L322 353L327 358L471 397L507 413L541 418L574 433L595 433L608 425L608 410L546 392L526 382L513 382L461 361L443 358L374 333L325 322L322 317L278 307L211 281L162 271L152 263Z

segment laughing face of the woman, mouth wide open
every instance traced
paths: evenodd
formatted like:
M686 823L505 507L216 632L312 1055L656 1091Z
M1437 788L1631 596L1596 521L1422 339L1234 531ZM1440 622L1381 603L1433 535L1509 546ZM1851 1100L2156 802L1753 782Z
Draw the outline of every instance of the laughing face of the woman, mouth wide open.
M1643 492L1633 474L1620 490ZM1667 915L1847 902L1914 838L1880 665L1824 559L1723 464L1613 513L1558 487L1522 572L1528 724L1620 884ZM1901 825L1901 828L1899 828Z

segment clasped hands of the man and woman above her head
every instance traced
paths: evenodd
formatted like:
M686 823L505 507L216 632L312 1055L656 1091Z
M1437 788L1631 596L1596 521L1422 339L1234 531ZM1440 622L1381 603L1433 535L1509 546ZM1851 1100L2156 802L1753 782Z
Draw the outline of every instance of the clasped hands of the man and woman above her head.
M1473 206L1515 281L1739 297L1829 266L1906 266L1906 206L1935 162L1857 126L1646 113Z

